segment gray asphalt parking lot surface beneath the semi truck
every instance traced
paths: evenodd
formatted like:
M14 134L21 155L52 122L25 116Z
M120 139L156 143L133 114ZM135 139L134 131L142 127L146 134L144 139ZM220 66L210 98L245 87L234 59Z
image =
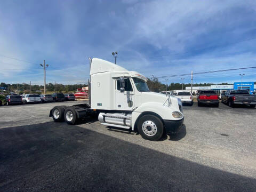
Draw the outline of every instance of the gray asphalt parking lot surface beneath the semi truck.
M177 136L147 141L55 105L0 107L0 191L256 191L256 109L184 106Z

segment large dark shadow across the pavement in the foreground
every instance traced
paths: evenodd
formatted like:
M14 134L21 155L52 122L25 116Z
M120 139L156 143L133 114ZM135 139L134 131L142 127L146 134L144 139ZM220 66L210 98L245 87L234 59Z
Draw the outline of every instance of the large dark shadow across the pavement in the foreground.
M0 129L0 191L255 191L255 183L76 125Z

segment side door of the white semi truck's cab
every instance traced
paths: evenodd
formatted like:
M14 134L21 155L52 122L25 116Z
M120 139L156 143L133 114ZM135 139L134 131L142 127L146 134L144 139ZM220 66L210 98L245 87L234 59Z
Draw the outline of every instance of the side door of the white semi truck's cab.
M116 110L132 110L135 106L134 99L134 87L132 86L131 80L129 78L124 79L125 86L124 92L120 91L120 82L116 80L116 100L115 100L115 109Z

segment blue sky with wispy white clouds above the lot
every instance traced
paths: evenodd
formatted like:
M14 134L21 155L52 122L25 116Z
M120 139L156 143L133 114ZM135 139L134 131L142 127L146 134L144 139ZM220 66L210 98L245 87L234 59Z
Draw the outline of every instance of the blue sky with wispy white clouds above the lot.
M256 1L0 1L0 82L80 84L88 57L147 77L256 67ZM194 83L256 82L256 68ZM190 76L184 76L190 83ZM158 78L181 83L181 77Z

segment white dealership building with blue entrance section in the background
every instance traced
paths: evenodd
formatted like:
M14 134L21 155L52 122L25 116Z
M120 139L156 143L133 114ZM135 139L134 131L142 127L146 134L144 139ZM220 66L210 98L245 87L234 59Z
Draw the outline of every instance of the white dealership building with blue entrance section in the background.
M211 86L193 86L192 92L197 93L199 90L214 90L217 93L227 90L248 90L250 94L256 91L256 85L254 82L235 82L233 85L211 85ZM186 87L186 90L191 90L191 87Z

